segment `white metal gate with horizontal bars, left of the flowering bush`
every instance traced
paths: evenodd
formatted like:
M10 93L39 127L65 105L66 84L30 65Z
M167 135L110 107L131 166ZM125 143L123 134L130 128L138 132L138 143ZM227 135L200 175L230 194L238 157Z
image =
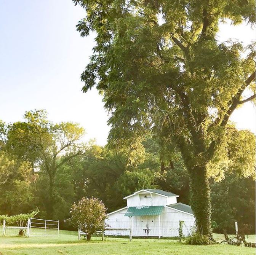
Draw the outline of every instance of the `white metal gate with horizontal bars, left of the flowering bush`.
M29 236L58 236L59 220L30 218Z

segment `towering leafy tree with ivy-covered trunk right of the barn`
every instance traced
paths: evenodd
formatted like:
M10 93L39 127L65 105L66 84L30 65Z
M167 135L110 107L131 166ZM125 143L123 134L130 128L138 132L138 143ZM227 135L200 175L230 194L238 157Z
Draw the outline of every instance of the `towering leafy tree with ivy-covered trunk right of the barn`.
M175 143L190 175L197 229L211 236L207 169L226 146L234 110L255 98L254 52L219 43L219 22L255 22L253 0L73 0L86 10L77 30L96 32L82 73L86 92L97 83L112 113L112 142L152 129ZM243 92L251 91L245 97ZM222 151L220 153L220 151Z

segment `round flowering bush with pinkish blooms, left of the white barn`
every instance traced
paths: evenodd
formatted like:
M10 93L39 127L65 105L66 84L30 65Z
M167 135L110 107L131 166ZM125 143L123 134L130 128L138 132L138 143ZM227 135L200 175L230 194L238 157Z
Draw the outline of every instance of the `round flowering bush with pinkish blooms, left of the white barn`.
M98 198L82 198L72 205L70 214L70 223L86 234L87 241L91 240L92 234L97 230L104 228L107 216L106 208Z

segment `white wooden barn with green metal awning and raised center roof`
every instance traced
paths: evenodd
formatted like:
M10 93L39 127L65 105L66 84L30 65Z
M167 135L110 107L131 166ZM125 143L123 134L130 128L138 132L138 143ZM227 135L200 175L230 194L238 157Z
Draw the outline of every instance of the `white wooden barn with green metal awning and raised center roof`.
M106 235L151 237L179 236L191 233L195 218L190 206L177 203L179 196L163 190L143 189L126 196L127 206L108 214ZM112 229L112 230L109 230Z

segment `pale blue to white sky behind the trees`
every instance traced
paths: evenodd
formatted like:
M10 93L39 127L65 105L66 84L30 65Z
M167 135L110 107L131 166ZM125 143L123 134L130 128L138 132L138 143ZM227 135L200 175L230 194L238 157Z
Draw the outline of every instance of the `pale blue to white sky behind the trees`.
M80 74L90 61L93 35L82 38L77 21L85 17L72 0L0 0L0 120L22 120L28 110L45 109L54 123L73 121L85 140L105 145L109 116L96 89L82 93ZM221 24L219 41L255 40L250 26ZM255 107L244 104L231 120L256 132Z

